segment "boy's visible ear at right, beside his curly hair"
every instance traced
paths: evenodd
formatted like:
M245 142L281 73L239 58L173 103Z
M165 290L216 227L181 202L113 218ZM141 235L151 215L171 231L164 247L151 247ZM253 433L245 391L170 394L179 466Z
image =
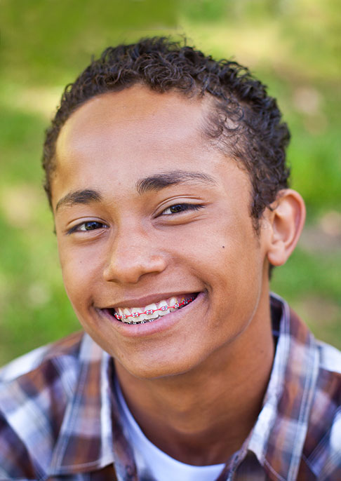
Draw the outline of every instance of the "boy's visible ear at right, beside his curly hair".
M269 209L271 225L267 259L273 266L285 264L295 249L305 224L305 202L293 189L279 191Z

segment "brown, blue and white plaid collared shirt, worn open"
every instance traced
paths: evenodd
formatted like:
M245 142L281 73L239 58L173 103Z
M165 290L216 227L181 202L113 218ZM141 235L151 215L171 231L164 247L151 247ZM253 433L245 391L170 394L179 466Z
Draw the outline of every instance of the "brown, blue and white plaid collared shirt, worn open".
M276 296L272 314L276 355L262 410L218 480L341 480L341 353ZM137 481L113 375L112 358L82 332L4 367L0 481Z

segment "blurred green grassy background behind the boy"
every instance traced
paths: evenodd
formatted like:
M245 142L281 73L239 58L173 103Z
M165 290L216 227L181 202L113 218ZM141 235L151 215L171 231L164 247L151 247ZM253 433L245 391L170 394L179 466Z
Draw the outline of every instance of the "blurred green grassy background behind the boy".
M336 0L0 0L0 365L79 329L41 188L62 88L109 44L154 34L248 65L278 98L308 217L272 289L341 348L339 14Z

